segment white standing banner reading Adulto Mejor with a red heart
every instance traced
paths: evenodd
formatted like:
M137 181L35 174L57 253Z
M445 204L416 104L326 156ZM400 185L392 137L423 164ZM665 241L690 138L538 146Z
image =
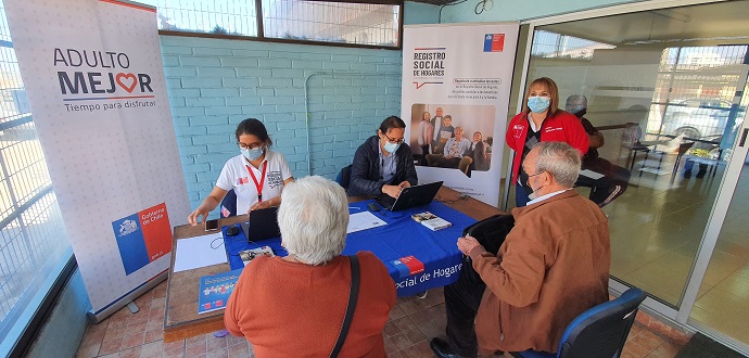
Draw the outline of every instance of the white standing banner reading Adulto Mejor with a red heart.
M156 10L7 0L13 48L93 312L169 267L190 212Z

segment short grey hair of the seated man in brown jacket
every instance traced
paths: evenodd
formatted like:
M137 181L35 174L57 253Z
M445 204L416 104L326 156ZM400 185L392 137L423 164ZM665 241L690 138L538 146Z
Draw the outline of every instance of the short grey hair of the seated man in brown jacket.
M536 172L548 171L560 186L574 186L580 175L580 151L566 142L541 142L533 149L538 151Z

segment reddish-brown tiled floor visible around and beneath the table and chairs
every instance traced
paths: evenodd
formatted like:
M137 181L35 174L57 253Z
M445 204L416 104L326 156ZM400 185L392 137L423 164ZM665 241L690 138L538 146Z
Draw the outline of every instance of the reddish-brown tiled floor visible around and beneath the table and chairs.
M89 325L77 357L253 357L252 345L246 340L230 335L217 338L205 334L164 343L165 292L166 282L163 282L136 299L139 312L130 314L125 307L101 323ZM393 358L433 357L429 341L434 336L444 337L445 322L441 289L431 290L424 299L398 298L384 328L388 355ZM636 322L622 357L674 357L678 349L680 344Z

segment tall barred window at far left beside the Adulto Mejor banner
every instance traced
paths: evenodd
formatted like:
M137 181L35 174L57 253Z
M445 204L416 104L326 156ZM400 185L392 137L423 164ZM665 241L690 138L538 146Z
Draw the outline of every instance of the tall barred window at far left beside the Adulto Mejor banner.
M49 292L69 247L0 4L0 354L17 340L9 332L28 323L30 303Z

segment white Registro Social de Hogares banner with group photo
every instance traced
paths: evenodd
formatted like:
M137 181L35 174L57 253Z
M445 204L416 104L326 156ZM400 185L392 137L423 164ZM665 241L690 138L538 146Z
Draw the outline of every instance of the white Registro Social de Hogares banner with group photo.
M519 23L404 26L401 118L420 183L443 180L498 204L519 28Z

